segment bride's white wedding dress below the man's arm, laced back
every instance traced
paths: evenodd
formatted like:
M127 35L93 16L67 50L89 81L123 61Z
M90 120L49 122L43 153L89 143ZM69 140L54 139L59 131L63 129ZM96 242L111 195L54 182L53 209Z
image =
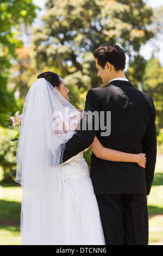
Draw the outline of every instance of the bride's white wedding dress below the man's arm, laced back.
M35 212L38 206L41 212L47 210L48 214L53 212L53 216L46 223L42 222L41 215L40 220L37 216L34 218L33 213L23 216L22 204L21 245L105 245L98 205L83 152L61 164L47 186L48 189L51 186L52 194L49 198L43 198L40 187L40 191L37 190L40 202L34 207ZM34 199L34 193L31 192L29 204ZM44 199L47 207L41 209ZM28 207L27 201L25 207ZM45 216L45 212L42 214Z

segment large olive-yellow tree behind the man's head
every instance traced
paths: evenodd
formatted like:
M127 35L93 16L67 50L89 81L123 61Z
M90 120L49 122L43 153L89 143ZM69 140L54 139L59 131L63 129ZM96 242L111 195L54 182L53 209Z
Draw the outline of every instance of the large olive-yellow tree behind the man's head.
M130 81L141 80L145 60L139 48L153 36L147 28L152 10L143 1L47 0L45 9L33 39L40 71L53 66L65 79L74 78L78 88L101 86L92 53L99 45L114 42L128 55Z

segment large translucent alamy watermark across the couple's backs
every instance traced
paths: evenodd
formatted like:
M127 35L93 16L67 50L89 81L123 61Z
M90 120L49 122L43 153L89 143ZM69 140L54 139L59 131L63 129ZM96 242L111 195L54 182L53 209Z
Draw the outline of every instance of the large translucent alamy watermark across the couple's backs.
M83 111L81 113L68 107L65 107L64 111L64 113L53 112L52 127L54 131L96 130L101 131L101 136L109 136L111 133L111 111Z

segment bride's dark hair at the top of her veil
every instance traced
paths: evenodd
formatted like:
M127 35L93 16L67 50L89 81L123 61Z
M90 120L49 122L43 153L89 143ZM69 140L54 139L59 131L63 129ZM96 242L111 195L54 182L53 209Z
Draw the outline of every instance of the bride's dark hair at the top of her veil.
M52 84L53 87L58 86L61 84L60 76L57 73L47 71L41 73L37 78L45 78L49 83Z

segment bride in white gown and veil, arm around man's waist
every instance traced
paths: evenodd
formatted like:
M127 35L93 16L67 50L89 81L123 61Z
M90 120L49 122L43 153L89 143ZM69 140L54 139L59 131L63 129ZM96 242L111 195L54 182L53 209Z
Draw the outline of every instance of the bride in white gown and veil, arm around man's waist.
M61 163L82 112L69 102L69 90L58 74L45 72L37 78L24 103L16 155L15 181L22 186L21 245L105 245L83 152ZM97 137L90 148L105 160L145 168L142 153L104 148Z

